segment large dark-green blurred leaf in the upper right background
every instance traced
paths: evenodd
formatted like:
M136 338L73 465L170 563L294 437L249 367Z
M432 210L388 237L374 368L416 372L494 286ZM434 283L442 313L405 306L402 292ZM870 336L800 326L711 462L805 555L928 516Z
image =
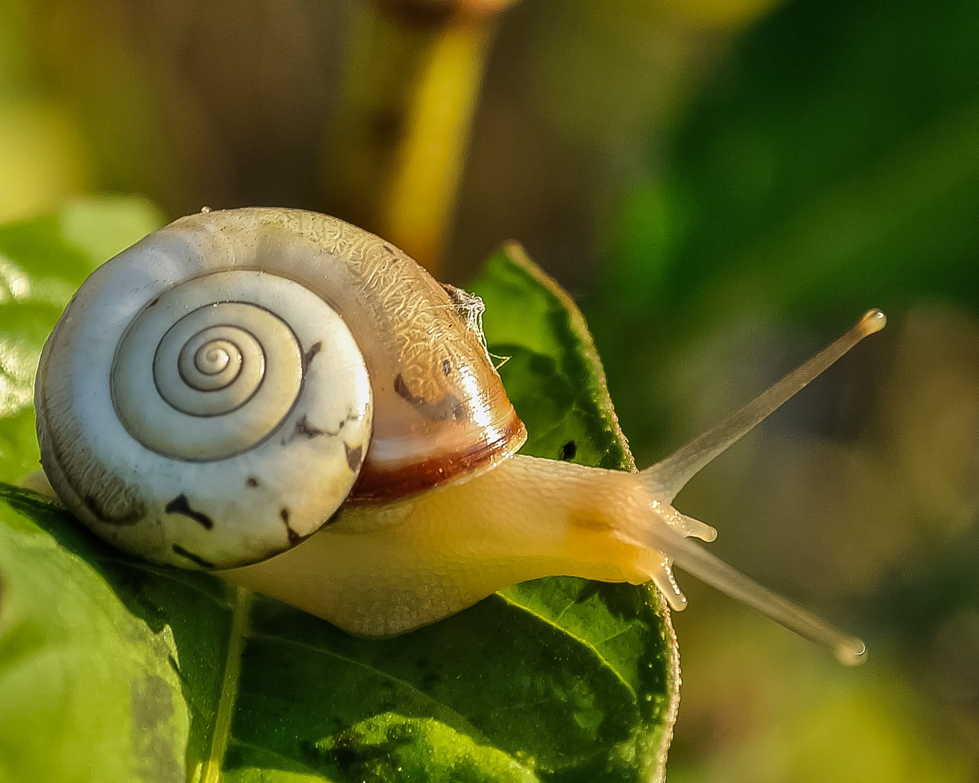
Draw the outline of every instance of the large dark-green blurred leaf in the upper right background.
M977 29L964 0L834 0L745 32L653 142L616 239L617 307L701 330L746 310L979 304Z

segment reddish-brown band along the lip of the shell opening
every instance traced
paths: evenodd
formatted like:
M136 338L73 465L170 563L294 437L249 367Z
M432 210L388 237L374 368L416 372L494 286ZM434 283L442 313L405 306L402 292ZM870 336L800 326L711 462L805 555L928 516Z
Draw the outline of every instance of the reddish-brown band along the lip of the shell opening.
M466 451L439 454L424 461L388 468L372 461L368 452L348 502L356 505L390 503L432 489L513 456L526 440L527 429L514 412L497 438Z

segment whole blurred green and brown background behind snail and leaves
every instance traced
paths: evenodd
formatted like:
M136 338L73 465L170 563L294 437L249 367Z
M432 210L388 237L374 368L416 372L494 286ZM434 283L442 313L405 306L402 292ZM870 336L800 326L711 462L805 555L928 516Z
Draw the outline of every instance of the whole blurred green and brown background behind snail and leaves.
M680 574L669 780L979 780L979 4L0 0L0 221L107 191L521 240L640 464L883 308L677 501L869 661Z

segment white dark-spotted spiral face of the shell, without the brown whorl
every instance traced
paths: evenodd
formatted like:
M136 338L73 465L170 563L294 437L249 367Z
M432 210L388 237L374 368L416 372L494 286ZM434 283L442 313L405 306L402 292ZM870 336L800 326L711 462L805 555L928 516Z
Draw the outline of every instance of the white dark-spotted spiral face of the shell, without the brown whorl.
M45 345L44 470L122 549L183 568L255 563L318 530L357 478L364 358L330 303L259 271L268 252L153 234L96 270Z

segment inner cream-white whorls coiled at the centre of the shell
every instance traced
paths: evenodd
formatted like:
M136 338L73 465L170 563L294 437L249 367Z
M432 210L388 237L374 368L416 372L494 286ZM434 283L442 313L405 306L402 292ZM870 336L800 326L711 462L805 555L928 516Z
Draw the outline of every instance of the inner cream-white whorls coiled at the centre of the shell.
M277 314L285 297L293 299L289 322ZM170 289L119 343L112 392L123 426L174 458L223 459L253 448L303 390L295 330L311 339L331 316L322 299L261 272L215 272Z

